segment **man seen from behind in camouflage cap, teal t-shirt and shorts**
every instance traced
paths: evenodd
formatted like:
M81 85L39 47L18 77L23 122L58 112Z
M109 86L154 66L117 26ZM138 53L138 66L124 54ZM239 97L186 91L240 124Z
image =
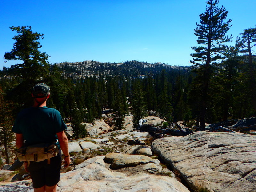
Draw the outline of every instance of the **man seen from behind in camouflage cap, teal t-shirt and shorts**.
M48 152L44 151L43 154L46 153L46 159L37 159L41 155L38 152L34 155L34 161L25 161L24 166L31 175L34 192L57 191L57 183L60 181L61 150L64 154L64 166L69 166L71 162L68 152L68 139L64 133L66 125L59 111L46 107L49 96L50 88L46 84L36 84L32 90L34 105L19 113L12 128L12 132L16 133L17 149L22 147L33 148L35 144L50 146L54 143L51 146L54 146L57 151L53 157L48 159ZM58 148L56 148L56 145ZM47 150L45 147L43 149ZM28 149L24 150L24 154L26 150Z

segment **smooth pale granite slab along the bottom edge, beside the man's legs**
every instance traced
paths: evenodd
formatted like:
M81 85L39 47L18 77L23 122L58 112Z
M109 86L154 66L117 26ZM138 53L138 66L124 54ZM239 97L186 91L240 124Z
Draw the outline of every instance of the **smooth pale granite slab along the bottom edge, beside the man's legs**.
M134 155L133 155L134 156ZM189 192L189 190L173 177L156 176L146 173L138 173L126 176L121 172L113 172L106 168L104 156L97 156L84 161L76 166L73 171L61 174L58 183L59 192L138 192L138 191L175 191ZM149 157L148 157L149 158ZM159 165L158 165L159 167ZM160 166L161 167L161 166ZM145 169L154 170L156 166L148 166ZM31 180L14 183L0 184L1 192L32 192Z

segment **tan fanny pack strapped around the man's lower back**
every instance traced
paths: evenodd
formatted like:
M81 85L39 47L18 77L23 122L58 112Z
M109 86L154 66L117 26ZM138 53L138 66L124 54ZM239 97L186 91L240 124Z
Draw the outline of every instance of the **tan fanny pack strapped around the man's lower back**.
M50 158L55 157L58 153L59 149L56 145L56 141L54 141L52 144L40 143L27 147L21 147L16 150L16 156L20 161L39 162L47 159L48 164L50 164Z

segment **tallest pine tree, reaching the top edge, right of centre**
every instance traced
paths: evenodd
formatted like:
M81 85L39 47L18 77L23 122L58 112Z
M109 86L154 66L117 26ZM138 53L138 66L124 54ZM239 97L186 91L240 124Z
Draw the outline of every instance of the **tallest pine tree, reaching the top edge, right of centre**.
M198 92L200 99L200 130L205 129L205 114L208 108L209 101L209 87L212 72L212 67L216 66L217 61L224 59L223 53L227 52L228 47L223 44L229 42L232 36L225 36L230 28L231 19L224 22L228 15L228 11L222 6L217 7L218 0L208 0L205 13L200 14L200 23L196 23L195 35L198 44L203 46L192 47L196 53L192 53L194 57L192 64L198 68L196 73L197 78L200 78L200 92Z

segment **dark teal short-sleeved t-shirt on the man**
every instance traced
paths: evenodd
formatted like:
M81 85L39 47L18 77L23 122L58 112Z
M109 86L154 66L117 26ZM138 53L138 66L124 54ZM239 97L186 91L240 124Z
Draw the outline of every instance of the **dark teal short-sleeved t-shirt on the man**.
M23 134L25 146L38 143L52 143L56 133L67 127L56 109L30 107L22 110L12 127L12 132Z

